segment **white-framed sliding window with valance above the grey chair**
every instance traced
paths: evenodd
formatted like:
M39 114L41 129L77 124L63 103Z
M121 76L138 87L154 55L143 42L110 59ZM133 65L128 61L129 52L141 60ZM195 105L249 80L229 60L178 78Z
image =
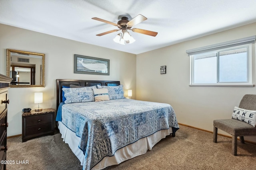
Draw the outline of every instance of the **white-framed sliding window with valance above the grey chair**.
M251 44L255 36L249 38L188 50L190 86L253 86Z

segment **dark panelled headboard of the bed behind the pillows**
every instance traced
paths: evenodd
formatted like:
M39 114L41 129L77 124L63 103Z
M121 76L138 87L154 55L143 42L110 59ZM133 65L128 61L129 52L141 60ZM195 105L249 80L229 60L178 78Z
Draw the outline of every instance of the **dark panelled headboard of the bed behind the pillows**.
M57 102L56 109L58 109L60 102L62 102L62 86L70 86L70 84L74 84L76 86L119 86L120 81L105 81L105 80L68 80L68 79L57 79Z

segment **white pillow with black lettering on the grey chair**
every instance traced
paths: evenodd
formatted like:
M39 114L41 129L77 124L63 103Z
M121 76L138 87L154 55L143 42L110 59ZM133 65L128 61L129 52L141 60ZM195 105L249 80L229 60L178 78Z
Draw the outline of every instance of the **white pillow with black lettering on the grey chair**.
M235 106L234 111L232 113L232 119L244 121L255 127L256 110L246 110Z

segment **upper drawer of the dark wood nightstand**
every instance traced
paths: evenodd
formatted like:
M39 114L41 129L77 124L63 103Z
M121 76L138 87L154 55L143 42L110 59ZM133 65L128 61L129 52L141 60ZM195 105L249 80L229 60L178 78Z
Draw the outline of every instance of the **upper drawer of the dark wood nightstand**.
M52 114L50 115L42 115L42 116L33 116L33 117L26 117L26 127L35 126L35 125L42 125L45 123L52 123Z

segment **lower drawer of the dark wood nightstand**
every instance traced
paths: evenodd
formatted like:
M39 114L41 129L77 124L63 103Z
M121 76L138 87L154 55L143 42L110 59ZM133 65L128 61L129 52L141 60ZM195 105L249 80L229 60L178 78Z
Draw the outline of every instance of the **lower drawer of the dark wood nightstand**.
M26 136L52 131L52 123L26 127Z

